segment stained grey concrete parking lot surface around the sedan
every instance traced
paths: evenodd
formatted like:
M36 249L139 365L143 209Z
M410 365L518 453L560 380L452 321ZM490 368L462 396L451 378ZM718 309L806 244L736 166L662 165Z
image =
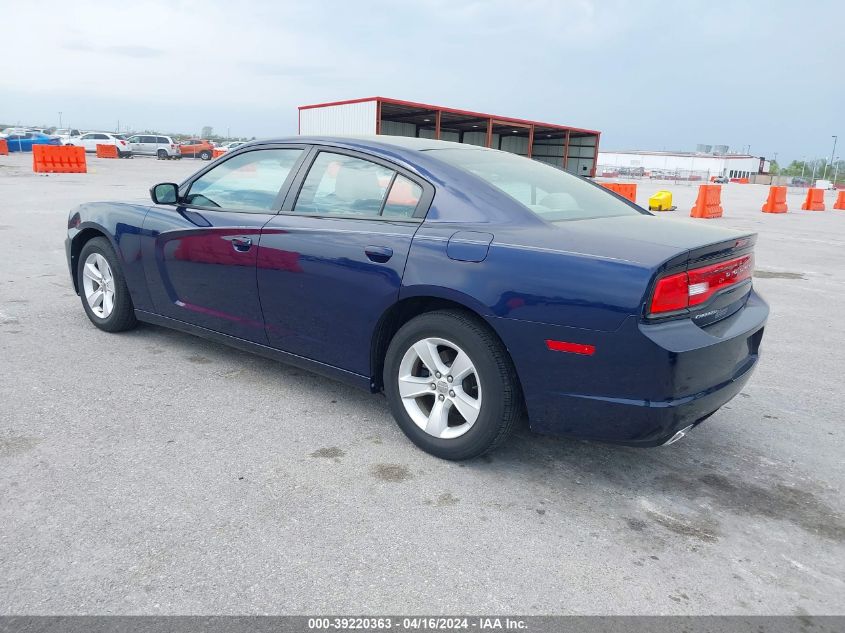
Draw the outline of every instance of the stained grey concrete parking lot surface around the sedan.
M97 330L68 210L145 199L199 161L0 157L3 614L836 614L845 211L767 188L662 188L665 221L759 233L772 315L751 383L672 446L520 429L466 463L416 449L381 396L189 335Z

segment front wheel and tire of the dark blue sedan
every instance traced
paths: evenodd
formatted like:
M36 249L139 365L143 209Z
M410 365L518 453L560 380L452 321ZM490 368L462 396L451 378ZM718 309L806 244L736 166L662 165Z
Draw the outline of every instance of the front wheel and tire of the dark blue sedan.
M105 237L85 243L76 274L82 307L91 323L106 332L122 332L137 325L123 270Z

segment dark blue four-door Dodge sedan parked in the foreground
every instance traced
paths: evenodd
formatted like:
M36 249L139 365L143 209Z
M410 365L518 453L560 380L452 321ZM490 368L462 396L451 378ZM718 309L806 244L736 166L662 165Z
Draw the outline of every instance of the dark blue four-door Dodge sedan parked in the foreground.
M657 219L513 154L298 137L150 193L70 214L97 327L155 323L383 391L446 459L525 414L543 433L669 443L757 363L754 234Z

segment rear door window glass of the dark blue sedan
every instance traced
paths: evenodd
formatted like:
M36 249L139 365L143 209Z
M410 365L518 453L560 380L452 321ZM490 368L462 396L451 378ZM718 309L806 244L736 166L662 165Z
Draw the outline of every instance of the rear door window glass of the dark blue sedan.
M368 160L320 152L308 171L293 212L378 216L394 173Z

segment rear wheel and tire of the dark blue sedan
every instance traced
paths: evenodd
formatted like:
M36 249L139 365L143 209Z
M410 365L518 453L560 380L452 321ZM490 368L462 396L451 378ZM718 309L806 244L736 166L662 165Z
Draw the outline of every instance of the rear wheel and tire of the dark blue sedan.
M483 322L458 310L429 312L399 329L385 358L384 391L405 435L442 459L493 450L522 413L507 350Z

